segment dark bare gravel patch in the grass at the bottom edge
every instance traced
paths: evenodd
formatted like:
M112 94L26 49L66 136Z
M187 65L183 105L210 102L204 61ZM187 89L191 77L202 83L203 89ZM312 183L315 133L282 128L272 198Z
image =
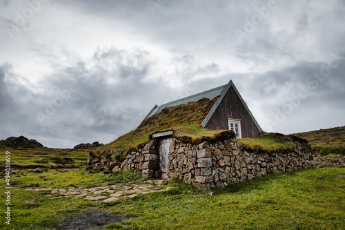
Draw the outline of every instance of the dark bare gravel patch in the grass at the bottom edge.
M56 230L101 229L107 224L130 219L124 215L108 214L108 212L107 210L90 209L83 215L63 220Z

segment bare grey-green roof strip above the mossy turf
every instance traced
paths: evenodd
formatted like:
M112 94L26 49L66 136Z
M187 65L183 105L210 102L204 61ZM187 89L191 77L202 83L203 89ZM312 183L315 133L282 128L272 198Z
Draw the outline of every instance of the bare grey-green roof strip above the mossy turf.
M226 88L226 85L224 86L219 86L217 88L212 88L210 90L206 90L204 92L201 93L197 93L195 95L190 95L188 97L184 97L181 99L177 99L176 101L173 102L168 102L166 104L162 104L161 106L155 106L152 108L152 110L150 111L150 113L148 113L148 115L145 117L150 117L156 113L159 113L160 111L162 111L164 108L166 107L173 107L173 106L178 106L180 104L187 104L189 102L197 102L199 99L201 98L208 98L208 99L213 99L219 95L221 95L221 93L223 92L224 88Z

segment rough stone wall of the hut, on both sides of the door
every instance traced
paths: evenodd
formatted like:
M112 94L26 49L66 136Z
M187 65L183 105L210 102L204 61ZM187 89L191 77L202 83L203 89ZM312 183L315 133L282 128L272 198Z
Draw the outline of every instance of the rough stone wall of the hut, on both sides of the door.
M313 155L306 140L276 134L276 137L293 142L295 146L289 151L269 152L242 146L237 143L233 131L225 132L226 135L221 137L196 141L173 135L168 153L168 179L177 177L199 188L213 189L269 173L313 166ZM127 159L121 164L112 164L112 171L130 169L148 178L159 178L157 148L157 140L150 140L142 148L128 152Z

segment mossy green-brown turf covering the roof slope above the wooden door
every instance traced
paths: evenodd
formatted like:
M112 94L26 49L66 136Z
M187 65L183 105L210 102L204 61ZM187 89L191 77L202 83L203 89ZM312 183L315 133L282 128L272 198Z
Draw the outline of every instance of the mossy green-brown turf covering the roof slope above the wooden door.
M97 154L126 152L132 146L148 142L149 135L157 131L175 129L182 135L190 137L210 136L218 133L219 131L209 131L200 125L218 97L213 99L202 98L197 102L166 107L161 112L144 119L135 130L101 146L97 150Z

